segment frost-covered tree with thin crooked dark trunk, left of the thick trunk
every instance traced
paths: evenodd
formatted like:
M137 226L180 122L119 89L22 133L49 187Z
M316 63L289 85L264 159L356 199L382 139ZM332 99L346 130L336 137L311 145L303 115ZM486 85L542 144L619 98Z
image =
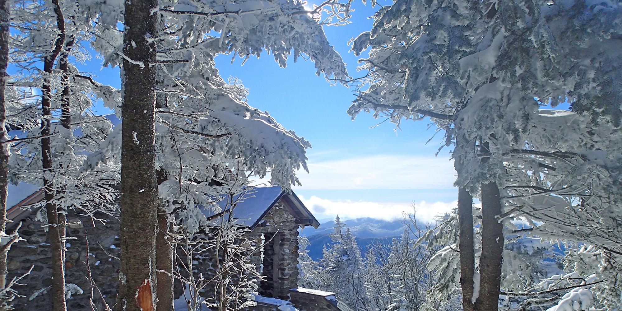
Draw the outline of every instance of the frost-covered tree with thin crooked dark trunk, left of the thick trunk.
M110 170L82 170L86 155L98 149L111 122L91 113L93 98L114 100L111 88L81 75L70 60L85 59L81 40L92 24L76 3L12 3L9 49L16 74L6 91L7 128L12 129L11 182L42 186L51 244L53 308L65 310L63 279L65 213L80 208L114 210ZM70 58L71 57L71 58ZM100 167L101 169L101 167ZM39 207L33 207L39 208Z

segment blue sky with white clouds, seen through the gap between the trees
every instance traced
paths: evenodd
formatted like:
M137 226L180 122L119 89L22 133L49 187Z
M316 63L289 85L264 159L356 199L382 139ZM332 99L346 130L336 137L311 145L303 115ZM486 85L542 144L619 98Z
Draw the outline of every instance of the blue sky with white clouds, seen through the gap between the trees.
M349 52L348 40L371 29L368 19L377 9L353 2L352 23L346 26L325 27L335 50L348 64L348 72L359 77L356 64L359 57ZM453 162L447 149L438 157L442 143L439 133L428 129L430 121L404 122L401 130L394 124L383 123L371 114L361 113L352 121L346 109L354 99L353 90L330 85L315 75L313 63L292 59L287 68L279 68L272 55L263 53L250 58L244 65L230 55L220 55L216 63L223 77L233 76L249 88L248 103L265 111L283 124L304 136L312 144L308 151L310 173L300 172L302 187L294 191L318 219L371 216L395 218L402 210L411 210L430 220L439 213L455 207L457 190ZM92 60L80 68L98 76L98 81L119 86L116 68L100 68Z

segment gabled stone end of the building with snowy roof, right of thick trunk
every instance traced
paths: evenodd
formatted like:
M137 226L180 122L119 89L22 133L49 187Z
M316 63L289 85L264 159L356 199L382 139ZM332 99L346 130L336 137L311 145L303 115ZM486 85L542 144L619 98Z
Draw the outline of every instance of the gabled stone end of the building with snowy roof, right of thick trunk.
M228 215L228 207L221 200L218 204ZM305 207L294 192L287 192L279 186L257 187L242 198L234 197L233 214L238 223L249 228L247 238L258 246L251 254L251 261L261 273L256 302L253 310L282 310L279 303L289 302L299 310L347 310L338 308L335 293L298 287L298 234L299 228L320 223ZM205 211L211 219L223 213ZM211 265L208 265L211 266Z

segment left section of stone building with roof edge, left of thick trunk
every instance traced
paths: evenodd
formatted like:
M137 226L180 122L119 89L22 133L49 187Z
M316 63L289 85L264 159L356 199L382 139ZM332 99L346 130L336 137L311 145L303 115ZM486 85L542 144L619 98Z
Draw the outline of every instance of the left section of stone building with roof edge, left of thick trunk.
M14 287L22 296L14 300L14 308L17 311L47 311L52 309L49 298L52 283L50 244L42 226L44 223L38 215L38 211L42 208L40 202L44 196L43 192L36 188L34 193L27 195L24 188L29 188L29 185L9 186L9 200L7 200L7 203L17 202L11 204L13 206L7 210L7 218L13 221L9 223L7 230L15 230L21 223L19 233L25 239L11 246L7 262L9 278L22 276L32 267L30 274L20 282L27 285ZM110 215L93 216L108 221L94 221L90 216L80 215L74 211L67 214L65 283L69 284L66 295L70 296L67 300L68 310L91 310L91 289L98 308L96 310L103 310L104 300L110 306L114 305L116 300L119 279L117 247L119 221Z

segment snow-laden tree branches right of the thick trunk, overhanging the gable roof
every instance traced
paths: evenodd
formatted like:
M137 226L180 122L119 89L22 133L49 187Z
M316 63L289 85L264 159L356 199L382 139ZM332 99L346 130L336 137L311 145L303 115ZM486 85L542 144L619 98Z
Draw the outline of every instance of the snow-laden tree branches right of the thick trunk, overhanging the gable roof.
M200 216L197 218L198 205L218 208L214 198L234 188L239 191L249 176L263 177L270 172L272 183L285 187L297 183L294 171L306 169L304 149L308 142L282 128L268 114L248 106L246 89L223 80L213 59L220 53L231 52L247 58L259 56L266 49L279 65L285 66L287 55L294 50L294 58L300 52L307 53L318 74L345 78L341 58L302 4L160 2L154 62L158 72L156 166L160 198L169 202L164 206L176 206L160 215L175 214L174 221L192 231L202 222ZM342 8L339 14L348 16L347 6ZM121 10L106 9L109 11ZM105 42L96 40L95 48L107 64L121 65L126 55L119 34L101 31L113 38ZM97 156L99 159L93 159L94 162L118 157L109 153ZM172 220L160 221L161 231L166 231L166 223ZM167 244L161 242L156 244ZM170 267L170 259L167 262L166 258L170 256L162 256L164 270ZM162 290L167 289L170 286Z

